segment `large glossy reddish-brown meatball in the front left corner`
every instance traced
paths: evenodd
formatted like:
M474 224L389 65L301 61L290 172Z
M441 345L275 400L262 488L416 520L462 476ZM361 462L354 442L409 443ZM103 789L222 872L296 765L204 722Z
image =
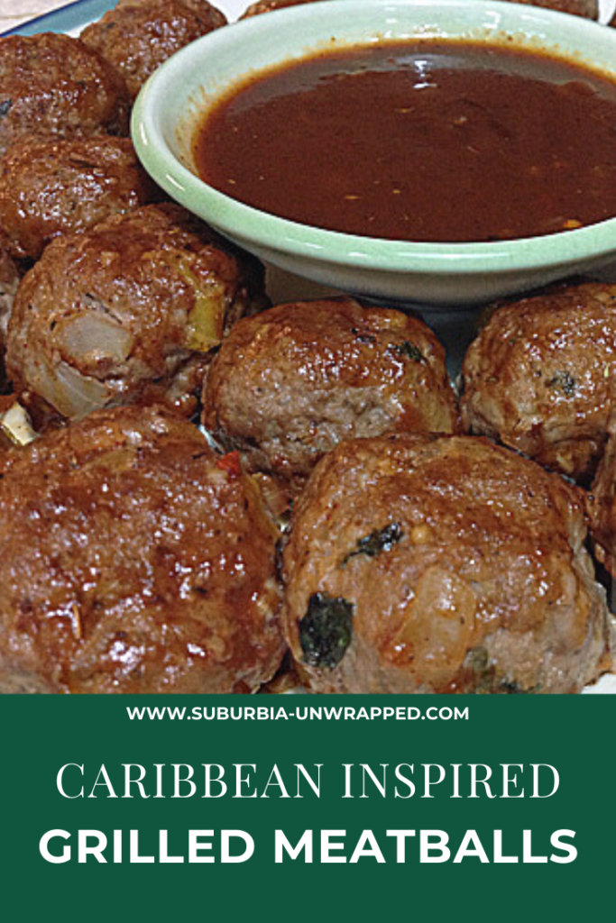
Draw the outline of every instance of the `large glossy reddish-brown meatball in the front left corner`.
M236 457L123 407L0 456L1 692L248 692L284 654Z

